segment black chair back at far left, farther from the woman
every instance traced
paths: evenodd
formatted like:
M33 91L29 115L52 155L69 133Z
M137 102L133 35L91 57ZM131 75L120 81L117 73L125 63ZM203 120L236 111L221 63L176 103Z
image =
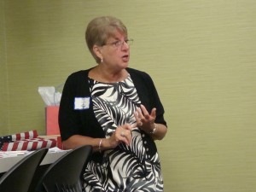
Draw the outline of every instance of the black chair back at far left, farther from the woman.
M38 149L32 154L27 154L9 171L0 177L1 192L27 192L32 181L32 177L37 167L44 159L48 148Z

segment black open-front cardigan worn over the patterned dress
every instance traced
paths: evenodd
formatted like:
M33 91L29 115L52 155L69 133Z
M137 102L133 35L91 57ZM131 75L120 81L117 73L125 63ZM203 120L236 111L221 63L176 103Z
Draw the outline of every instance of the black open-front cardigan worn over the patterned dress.
M154 82L148 73L132 68L126 68L126 70L130 73L139 99L145 108L147 108L148 112L150 113L152 108L156 108L155 123L166 125L164 108L154 87ZM90 69L72 73L64 85L59 110L59 125L62 141L67 140L68 137L73 135L84 135L95 138L105 137L102 126L98 123L92 108L88 83L89 71ZM89 97L90 107L84 110L74 110L75 97ZM155 148L155 146L152 147ZM154 152L156 152L156 148Z

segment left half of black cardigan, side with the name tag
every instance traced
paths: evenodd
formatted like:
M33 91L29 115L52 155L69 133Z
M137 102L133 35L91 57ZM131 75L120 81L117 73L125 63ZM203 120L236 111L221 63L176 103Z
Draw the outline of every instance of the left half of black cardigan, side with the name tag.
M73 135L105 137L102 126L93 112L88 84L89 71L90 69L71 74L64 85L59 110L59 125L63 141ZM75 108L76 98L85 98L89 102L88 106L81 109Z

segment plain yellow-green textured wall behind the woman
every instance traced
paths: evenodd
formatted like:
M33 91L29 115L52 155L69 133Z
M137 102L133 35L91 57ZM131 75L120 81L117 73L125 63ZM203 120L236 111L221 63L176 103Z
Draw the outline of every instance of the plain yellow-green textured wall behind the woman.
M44 134L38 86L95 65L92 18L114 15L134 38L169 131L157 142L166 192L256 191L255 0L0 0L0 133Z

